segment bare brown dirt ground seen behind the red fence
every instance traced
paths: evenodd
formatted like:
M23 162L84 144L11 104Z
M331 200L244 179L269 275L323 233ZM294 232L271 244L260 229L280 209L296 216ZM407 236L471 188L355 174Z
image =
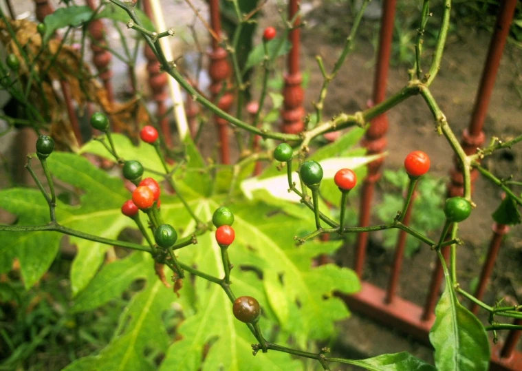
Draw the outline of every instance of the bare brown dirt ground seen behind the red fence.
M348 34L352 15L347 3L325 1L321 8L314 8L317 6L317 1L305 2L305 5L311 11L305 16L308 26L302 30L302 65L303 70L309 72L310 76L305 94L305 101L310 109L309 102L316 100L322 83L315 56L318 54L322 56L327 70L331 68L342 50L340 43L334 40L334 36ZM261 20L261 28L274 20L279 21L276 6L268 6L265 15L266 17ZM371 98L375 59L375 49L371 41L375 38L378 21L363 19L360 28L362 32L358 36L354 53L348 57L337 78L329 87L325 117L339 112L353 113L365 109L367 100ZM433 96L457 136L460 136L469 123L489 41L490 33L484 30L477 31L457 26L448 38L441 69L431 87ZM510 138L520 133L522 96L516 91L515 85L522 85L521 61L522 51L508 44L491 97L488 117L484 123L486 143L492 136ZM424 59L425 66L428 62L427 58ZM389 94L398 91L407 83L407 69L406 65L391 67ZM451 156L448 154L450 147L444 137L439 137L435 133L431 113L420 97L409 98L389 112L387 138L389 156L384 165L387 169L399 169L404 156L415 149L426 151L431 157L431 173L435 176L447 177L448 171L453 167ZM511 151L494 153L484 164L500 178L513 174L516 180L517 175L521 173L521 156L522 145L519 145ZM376 203L380 200L379 190L378 186ZM490 215L498 206L500 198L499 189L483 178L477 180L474 193L477 209L469 220L461 223L459 235L466 242L458 249L458 275L464 288L468 288L470 281L479 275L492 235ZM484 301L489 304L493 304L495 299L501 297L505 297L508 303L521 303L522 271L519 268L522 264L521 237L521 228L516 226L503 242L490 288L484 297ZM381 248L380 238L382 237L378 234L370 237L363 278L385 288L393 262L393 251ZM337 259L345 266L351 266L353 255L354 246L346 246ZM398 295L423 305L431 269L434 266L435 255L428 248L422 248L411 259L405 259ZM383 352L408 350L417 357L433 362L429 348L416 343L404 334L373 323L364 315L354 315L348 321L339 324L339 332L340 337L334 350L342 352L345 357L368 357ZM502 337L502 334L500 335Z

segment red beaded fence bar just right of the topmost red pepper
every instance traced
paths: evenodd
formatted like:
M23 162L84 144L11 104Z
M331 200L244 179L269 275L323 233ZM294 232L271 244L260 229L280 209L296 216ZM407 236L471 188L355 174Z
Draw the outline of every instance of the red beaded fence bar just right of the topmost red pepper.
M290 0L288 3L288 19L295 17L299 10L298 0ZM305 92L301 84L303 76L299 71L299 47L301 30L298 27L301 18L297 17L294 21L294 29L288 34L288 39L292 44L292 49L287 56L288 71L284 76L285 87L283 89L283 124L281 131L286 134L298 134L303 131L305 125L303 117L305 109L303 108L303 100L305 100Z

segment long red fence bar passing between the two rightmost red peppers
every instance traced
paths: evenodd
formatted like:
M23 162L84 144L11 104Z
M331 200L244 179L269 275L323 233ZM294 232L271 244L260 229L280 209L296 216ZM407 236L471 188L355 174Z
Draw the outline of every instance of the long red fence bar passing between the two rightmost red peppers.
M395 0L384 0L382 2L382 22L379 36L379 50L376 66L376 76L373 81L373 103L377 104L384 100L388 81L388 70L391 53L391 38L393 36L393 20L395 19ZM365 134L362 144L367 148L368 154L382 153L387 145L384 136L388 130L388 118L382 114L371 121L371 125ZM375 182L380 178L380 167L384 160L371 162L368 165L368 176L362 185L362 199L359 209L359 225L367 226L370 222L371 200ZM361 277L365 262L368 233L359 233L357 236L356 259L354 269Z

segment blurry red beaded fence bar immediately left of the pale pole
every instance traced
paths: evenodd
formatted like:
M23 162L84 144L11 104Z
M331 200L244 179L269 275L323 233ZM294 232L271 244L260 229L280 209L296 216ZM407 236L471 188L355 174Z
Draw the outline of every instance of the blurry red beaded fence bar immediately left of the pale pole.
M147 17L153 19L153 12L149 0L143 0L143 10ZM166 92L168 76L165 72L162 72L160 62L157 61L149 45L145 45L144 54L147 60L146 70L149 72L149 87L151 87L152 97L156 103L156 117L161 118L159 124L165 138L166 147L172 147L171 127L168 125L168 118L165 115L165 100L168 96Z

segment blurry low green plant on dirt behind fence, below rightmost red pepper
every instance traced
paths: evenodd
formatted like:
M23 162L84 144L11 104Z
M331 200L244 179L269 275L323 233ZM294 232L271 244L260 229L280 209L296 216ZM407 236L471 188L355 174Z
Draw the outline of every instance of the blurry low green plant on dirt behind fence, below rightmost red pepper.
M384 170L380 180L380 187L384 192L382 201L376 206L376 215L382 222L389 220L389 215L402 209L404 193L408 189L408 174L404 169L398 171ZM413 201L411 228L423 231L425 235L434 235L444 224L444 195L446 184L444 179L433 176L423 176L417 184L417 195ZM382 246L389 250L395 248L399 231L389 230L382 232ZM415 238L406 238L404 255L411 257L422 246L422 242Z

